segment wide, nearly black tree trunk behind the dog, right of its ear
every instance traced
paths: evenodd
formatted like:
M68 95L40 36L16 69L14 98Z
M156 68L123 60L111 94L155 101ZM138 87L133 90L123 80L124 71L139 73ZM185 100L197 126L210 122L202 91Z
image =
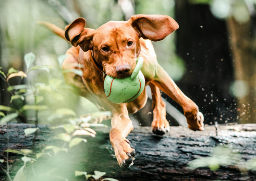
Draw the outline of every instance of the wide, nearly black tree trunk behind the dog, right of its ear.
M189 1L175 1L175 20L180 25L175 31L177 54L186 68L177 85L198 105L206 124L237 122L236 100L230 94L234 78L225 21L216 19L208 5Z

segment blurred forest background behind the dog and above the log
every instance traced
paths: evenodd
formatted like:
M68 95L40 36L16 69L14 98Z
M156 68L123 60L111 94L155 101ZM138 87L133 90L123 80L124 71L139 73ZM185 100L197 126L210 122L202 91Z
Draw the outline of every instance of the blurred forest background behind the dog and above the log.
M128 20L134 14L164 14L174 18L180 28L166 39L154 42L159 64L178 87L205 115L205 124L256 123L256 0L0 0L0 66L7 73L13 67L25 72L24 55L36 55L33 65L59 67L58 56L71 46L37 24L45 21L62 29L78 17L86 28L97 29L110 20ZM28 73L21 84L49 84L54 70ZM9 83L17 85L20 78ZM85 98L66 89L43 100L51 111L72 109L76 115L98 111ZM182 108L162 93L167 119L175 119ZM11 93L0 80L0 104L9 105ZM20 109L33 100L15 100ZM29 113L27 113L29 114ZM45 123L43 112L39 123ZM134 126L150 126L151 100L131 115ZM183 118L182 118L183 119ZM50 124L54 123L54 119Z

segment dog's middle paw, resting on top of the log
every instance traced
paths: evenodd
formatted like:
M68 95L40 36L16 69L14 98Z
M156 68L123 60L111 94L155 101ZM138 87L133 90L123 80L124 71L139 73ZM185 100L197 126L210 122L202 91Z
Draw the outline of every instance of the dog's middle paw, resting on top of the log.
M151 126L152 126L152 132L156 135L162 136L166 134L168 131L170 131L170 124L166 120L166 118L154 120Z

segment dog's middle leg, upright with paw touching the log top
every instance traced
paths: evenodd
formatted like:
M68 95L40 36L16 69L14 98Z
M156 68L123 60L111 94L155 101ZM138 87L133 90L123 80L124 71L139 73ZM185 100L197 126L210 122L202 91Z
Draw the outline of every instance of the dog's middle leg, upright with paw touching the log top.
M153 122L152 131L156 135L164 135L170 131L170 124L166 120L165 102L163 102L160 90L153 83L149 83L152 93Z

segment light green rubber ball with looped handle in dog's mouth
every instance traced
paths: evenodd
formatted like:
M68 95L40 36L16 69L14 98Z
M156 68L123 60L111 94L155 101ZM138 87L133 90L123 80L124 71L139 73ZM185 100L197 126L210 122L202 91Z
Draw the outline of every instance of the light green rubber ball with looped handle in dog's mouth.
M145 87L145 78L141 72L143 57L136 59L136 67L130 77L117 79L106 76L104 80L104 92L107 98L113 103L127 103L134 101Z

